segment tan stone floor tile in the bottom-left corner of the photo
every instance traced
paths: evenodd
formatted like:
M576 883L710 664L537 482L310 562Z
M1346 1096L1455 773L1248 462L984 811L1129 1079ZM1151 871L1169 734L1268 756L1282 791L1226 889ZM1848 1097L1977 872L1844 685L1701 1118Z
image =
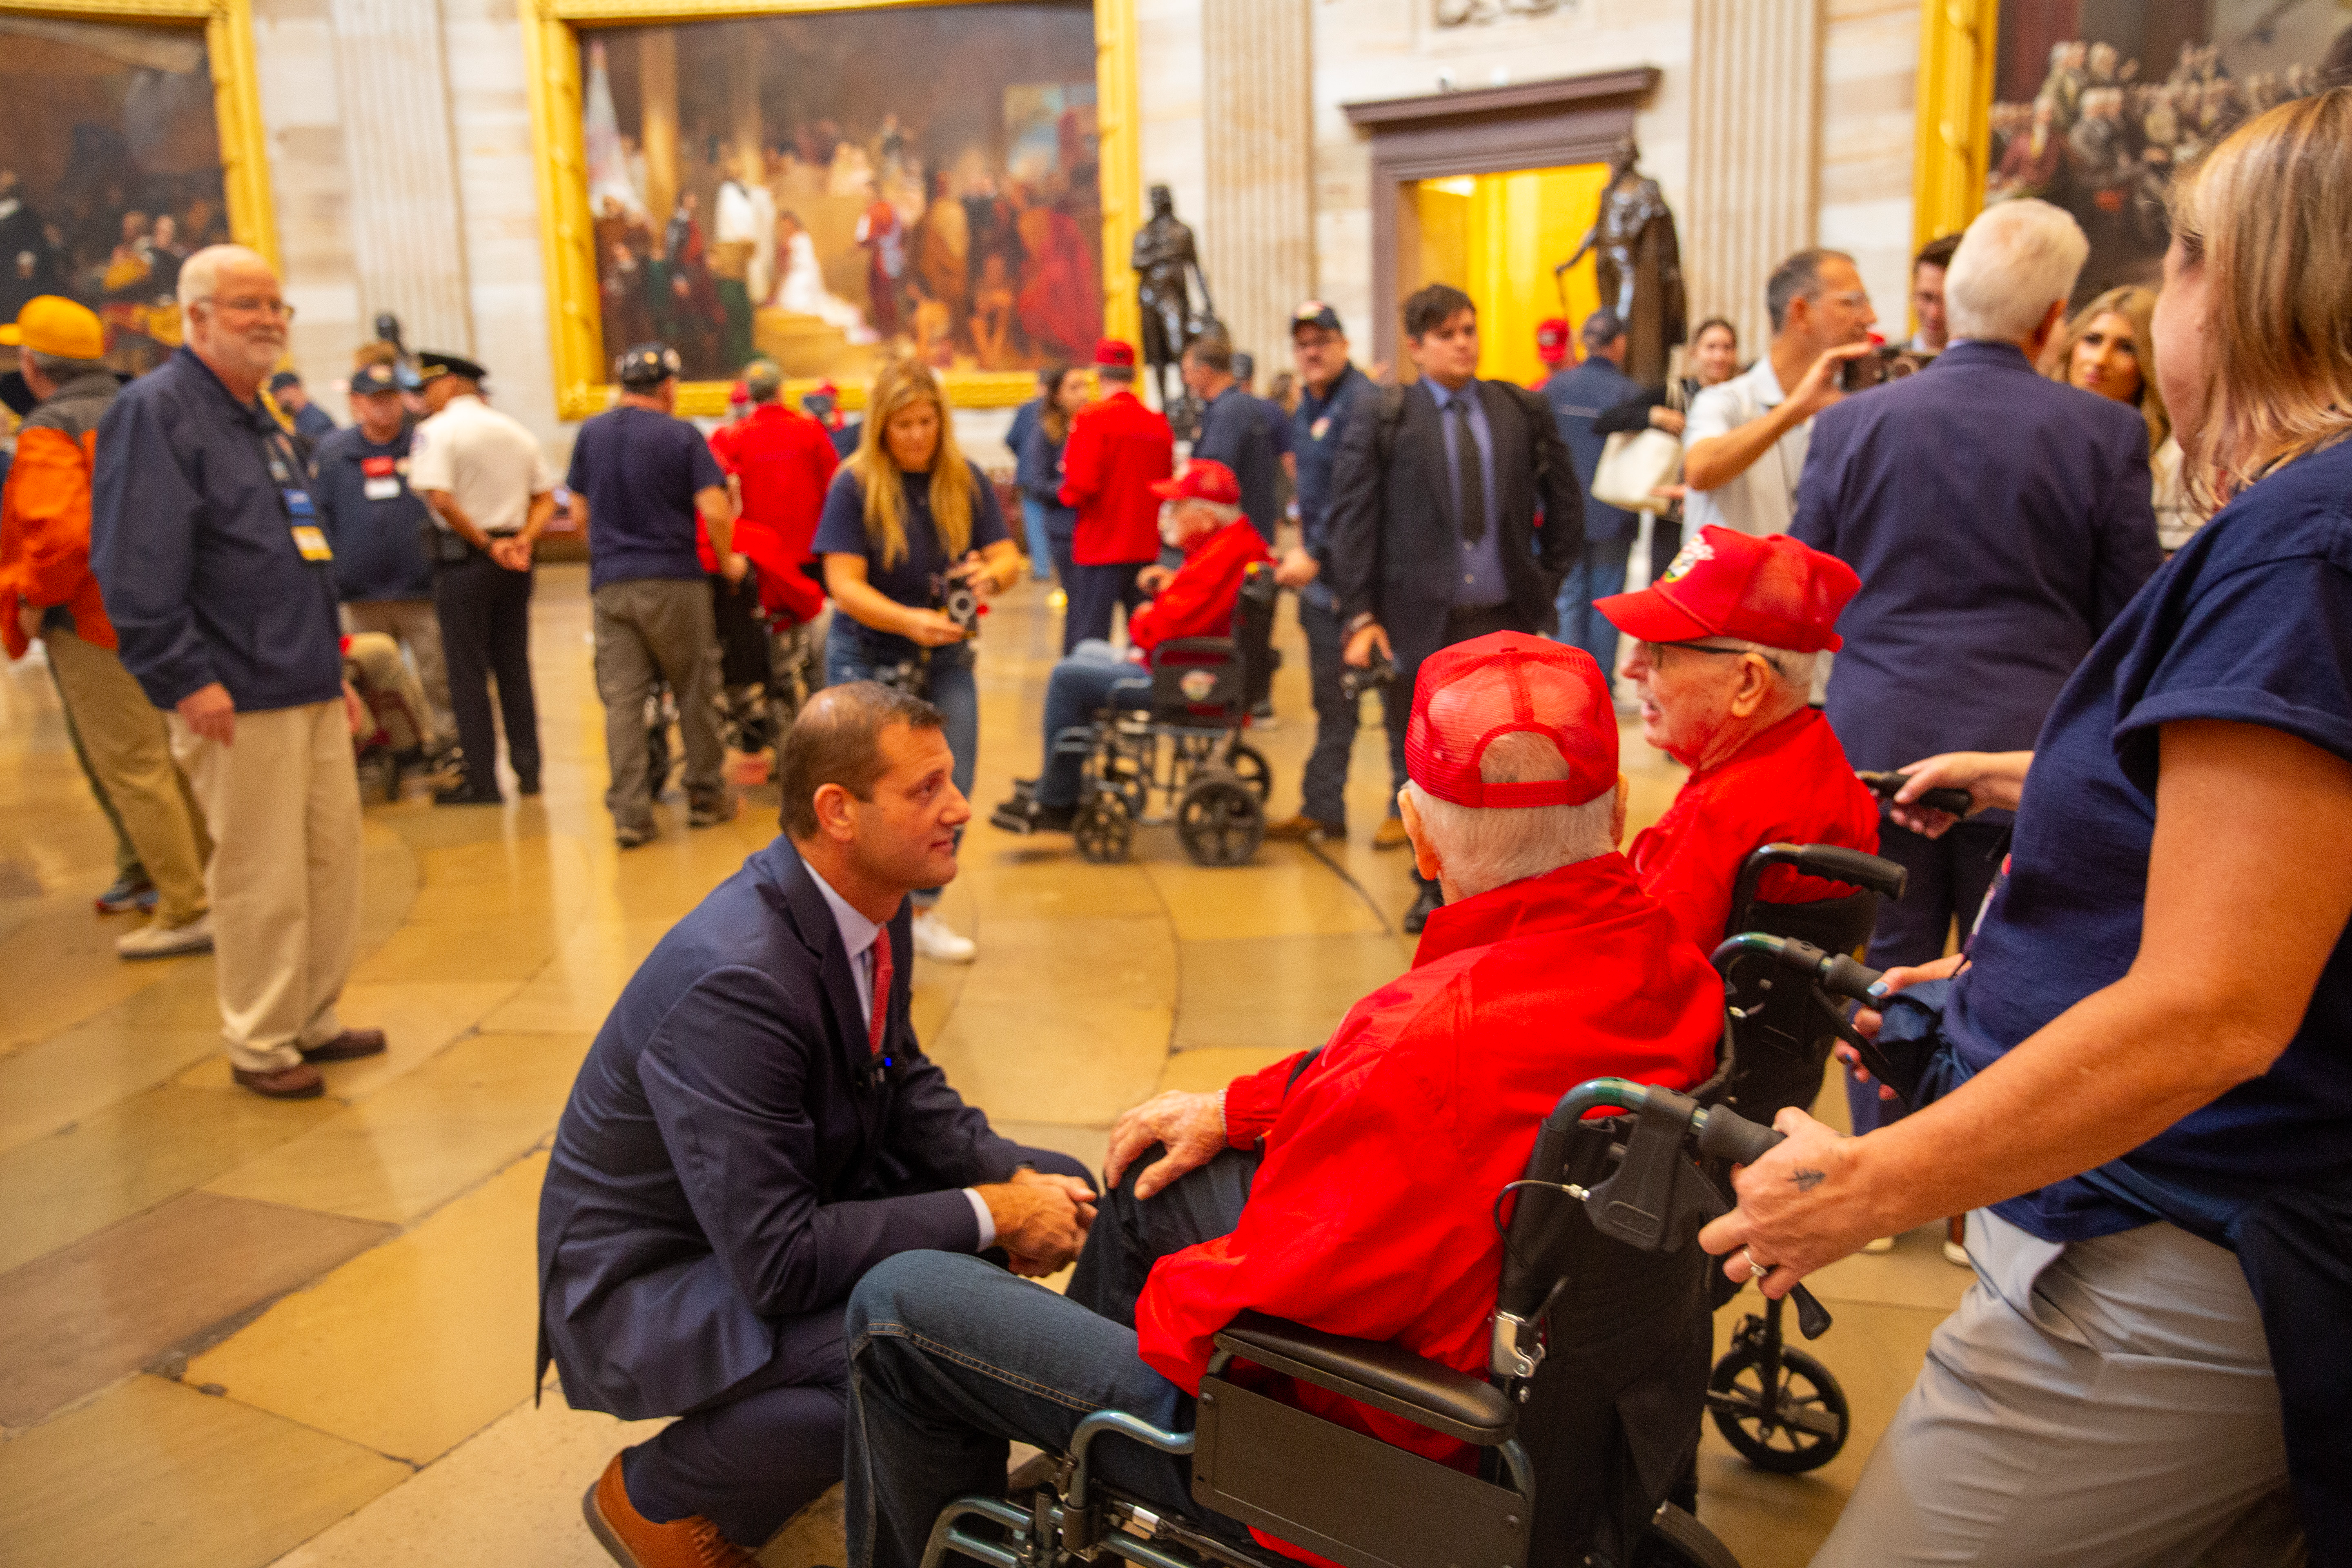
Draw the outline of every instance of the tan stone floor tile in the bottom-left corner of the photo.
M407 1476L339 1436L141 1375L9 1441L0 1556L259 1568Z

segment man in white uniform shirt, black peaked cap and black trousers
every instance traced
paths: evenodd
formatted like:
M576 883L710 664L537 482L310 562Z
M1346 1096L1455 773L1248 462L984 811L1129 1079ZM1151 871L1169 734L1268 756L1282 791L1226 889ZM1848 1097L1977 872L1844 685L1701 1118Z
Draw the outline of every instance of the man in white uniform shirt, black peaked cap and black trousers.
M539 795L539 705L532 701L532 545L555 515L555 475L522 421L482 402L489 378L473 360L419 350L426 409L409 447L409 487L433 508L449 705L463 776L440 806L499 804L499 736L489 679L499 679L506 759L515 790Z

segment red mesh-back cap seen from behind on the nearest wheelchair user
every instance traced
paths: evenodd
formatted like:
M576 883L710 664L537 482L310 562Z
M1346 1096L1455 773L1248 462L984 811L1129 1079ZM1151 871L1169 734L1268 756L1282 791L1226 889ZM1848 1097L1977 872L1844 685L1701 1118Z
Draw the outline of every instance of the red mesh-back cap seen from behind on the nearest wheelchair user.
M1496 736L1545 736L1566 778L1486 783L1479 762ZM1592 654L1524 632L1456 642L1421 661L1404 771L1456 806L1583 806L1616 788L1616 708Z

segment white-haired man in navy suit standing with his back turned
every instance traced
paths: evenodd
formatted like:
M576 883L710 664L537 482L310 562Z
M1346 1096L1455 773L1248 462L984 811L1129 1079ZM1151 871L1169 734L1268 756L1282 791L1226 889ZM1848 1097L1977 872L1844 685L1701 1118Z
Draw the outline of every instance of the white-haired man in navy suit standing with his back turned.
M1945 273L1950 348L1813 421L1790 534L1863 578L1828 698L1858 769L2030 750L2067 675L2164 562L2147 421L2034 371L2086 254L2058 207L1987 207ZM2006 835L2006 811L1940 839L1884 820L1879 853L1910 867L1910 891L1879 903L1870 964L1943 957L1955 917L1966 936ZM1875 1088L1856 1103L1875 1107Z

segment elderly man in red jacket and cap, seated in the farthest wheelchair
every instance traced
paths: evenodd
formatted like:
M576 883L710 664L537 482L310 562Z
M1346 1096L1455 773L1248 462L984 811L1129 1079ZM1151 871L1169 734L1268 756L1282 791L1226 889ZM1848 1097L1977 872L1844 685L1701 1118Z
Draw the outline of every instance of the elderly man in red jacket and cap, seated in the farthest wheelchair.
M1174 480L1152 484L1160 538L1183 552L1183 567L1145 567L1138 583L1152 592L1127 616L1127 651L1089 637L1054 665L1044 689L1044 769L1014 780L1014 797L988 820L1007 832L1070 832L1077 816L1082 759L1054 750L1054 736L1082 726L1122 689L1150 691L1150 656L1176 637L1230 637L1232 604L1251 562L1272 562L1265 538L1242 512L1242 482L1223 463L1192 458Z

